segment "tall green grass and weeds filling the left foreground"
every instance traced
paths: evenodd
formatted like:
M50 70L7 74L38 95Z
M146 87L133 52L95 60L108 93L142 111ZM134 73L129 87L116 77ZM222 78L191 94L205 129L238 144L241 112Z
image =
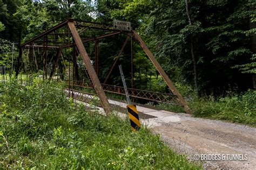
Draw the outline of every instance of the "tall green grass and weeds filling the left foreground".
M199 169L147 128L84 110L58 85L0 83L0 169Z

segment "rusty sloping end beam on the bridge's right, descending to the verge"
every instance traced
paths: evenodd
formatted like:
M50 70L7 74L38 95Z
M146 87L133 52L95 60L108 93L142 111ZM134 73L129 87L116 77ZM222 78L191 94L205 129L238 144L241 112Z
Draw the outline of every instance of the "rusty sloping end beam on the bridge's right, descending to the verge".
M179 101L179 103L181 105L183 105L183 108L184 108L185 112L187 114L192 114L192 110L188 107L188 105L185 102L184 98L180 95L179 91L176 89L176 87L173 85L172 81L169 79L167 74L164 72L164 69L161 68L161 66L158 63L158 61L156 60L156 58L154 58L154 55L151 53L149 48L146 46L145 42L142 40L142 38L140 38L139 34L136 31L133 30L132 32L133 32L133 35L138 40L140 47L143 48L144 52L147 54L147 56L151 60L151 62L153 63L154 67L156 67L156 69L158 70L160 75L163 77L163 79L164 79L165 83L167 84L167 86L170 88L172 93L177 96L177 100Z

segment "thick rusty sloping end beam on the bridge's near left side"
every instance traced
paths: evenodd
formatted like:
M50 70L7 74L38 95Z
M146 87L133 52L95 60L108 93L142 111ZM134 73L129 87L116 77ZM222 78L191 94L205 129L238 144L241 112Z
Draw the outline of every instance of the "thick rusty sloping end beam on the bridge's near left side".
M96 75L95 69L93 68L91 64L91 60L89 58L89 55L87 54L85 47L83 45L83 42L78 34L78 31L76 29L75 23L68 22L69 29L72 33L73 39L76 42L78 51L80 55L82 56L82 59L84 61L85 67L90 75L90 78L92 80L93 86L95 88L95 91L99 97L100 104L102 105L103 109L105 110L106 114L110 114L111 107L109 104L109 101L107 100L106 94L102 88L102 85L99 82L98 76Z

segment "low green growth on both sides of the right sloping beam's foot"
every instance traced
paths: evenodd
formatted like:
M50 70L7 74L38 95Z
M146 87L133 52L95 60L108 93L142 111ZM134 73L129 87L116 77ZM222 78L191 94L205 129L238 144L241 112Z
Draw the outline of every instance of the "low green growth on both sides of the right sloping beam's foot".
M248 89L245 93L226 91L225 96L202 95L198 96L191 86L176 83L175 86L192 109L193 116L219 119L234 123L256 126L256 90ZM233 90L234 91L234 90ZM184 112L180 105L166 103L147 103L154 107Z

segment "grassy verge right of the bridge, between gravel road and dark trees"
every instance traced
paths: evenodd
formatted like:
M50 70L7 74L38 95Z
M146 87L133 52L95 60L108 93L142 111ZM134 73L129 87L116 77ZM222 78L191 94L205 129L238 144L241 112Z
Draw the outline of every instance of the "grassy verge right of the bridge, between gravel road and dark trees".
M206 117L256 125L256 90L215 99L213 96L189 102L196 117Z

